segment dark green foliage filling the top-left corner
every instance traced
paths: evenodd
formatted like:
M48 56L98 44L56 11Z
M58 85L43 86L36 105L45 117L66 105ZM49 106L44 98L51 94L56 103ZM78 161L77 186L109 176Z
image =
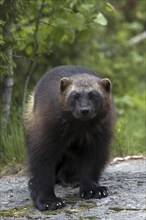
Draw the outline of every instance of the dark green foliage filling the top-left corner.
M0 1L0 73L8 74L8 49L16 44L15 34L12 31L14 22L17 23L24 12L25 0Z

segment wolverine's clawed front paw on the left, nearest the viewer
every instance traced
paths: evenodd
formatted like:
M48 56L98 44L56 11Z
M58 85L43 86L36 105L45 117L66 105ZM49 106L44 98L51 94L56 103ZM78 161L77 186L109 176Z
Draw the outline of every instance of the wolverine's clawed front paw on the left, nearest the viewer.
M34 202L34 206L40 211L61 209L65 205L65 201L57 197L47 199L38 197Z

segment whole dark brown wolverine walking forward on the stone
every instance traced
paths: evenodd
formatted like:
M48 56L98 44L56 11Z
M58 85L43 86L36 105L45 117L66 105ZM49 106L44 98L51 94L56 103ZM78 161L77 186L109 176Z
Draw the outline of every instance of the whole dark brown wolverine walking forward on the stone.
M35 207L65 206L54 185L79 184L81 198L102 198L99 178L109 158L114 108L111 82L80 66L61 66L36 85L25 114L25 134Z

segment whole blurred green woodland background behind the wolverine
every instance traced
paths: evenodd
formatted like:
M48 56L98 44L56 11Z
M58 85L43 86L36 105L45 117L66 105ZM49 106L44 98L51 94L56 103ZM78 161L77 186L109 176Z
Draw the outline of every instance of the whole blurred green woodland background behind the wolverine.
M23 163L22 112L52 67L83 65L111 79L112 156L145 151L145 0L0 0L0 164Z

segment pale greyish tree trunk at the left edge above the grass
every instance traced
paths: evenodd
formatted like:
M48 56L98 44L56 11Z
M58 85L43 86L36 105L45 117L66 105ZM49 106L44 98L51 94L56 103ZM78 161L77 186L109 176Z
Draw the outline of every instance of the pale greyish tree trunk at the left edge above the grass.
M2 94L2 124L4 126L6 126L9 121L12 92L13 92L13 85L14 85L12 49L7 50L7 56L8 56L8 74L4 81L4 92Z

